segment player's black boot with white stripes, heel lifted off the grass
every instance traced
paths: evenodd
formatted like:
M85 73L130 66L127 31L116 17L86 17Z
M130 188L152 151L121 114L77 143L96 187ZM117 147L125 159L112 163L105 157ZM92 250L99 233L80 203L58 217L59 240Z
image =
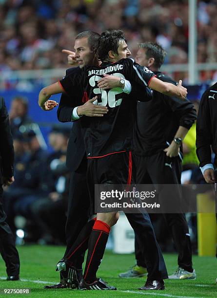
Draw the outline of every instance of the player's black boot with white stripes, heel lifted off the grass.
M69 283L72 289L78 289L83 275L82 269L69 266L67 262L61 260L57 263L56 271L60 273L60 282Z

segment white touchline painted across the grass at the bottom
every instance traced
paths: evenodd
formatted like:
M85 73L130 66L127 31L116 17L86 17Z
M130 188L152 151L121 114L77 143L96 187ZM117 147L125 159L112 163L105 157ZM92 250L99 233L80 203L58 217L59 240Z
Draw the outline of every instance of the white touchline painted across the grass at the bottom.
M1 276L0 279L6 279L6 276ZM21 281L30 281L30 282L35 282L35 283L42 283L42 284L46 284L46 283L50 283L50 284L55 284L58 283L58 281L45 281L45 280L31 280L31 279L20 279ZM205 287L205 286L210 286L209 284L195 284L196 286L199 287ZM153 295L153 296L163 296L163 297L171 297L171 298L203 298L203 297L192 297L192 296L176 296L176 295L170 295L170 294L159 294L159 293L153 293L152 291L148 291L148 292L137 292L137 291L123 291L123 290L117 290L118 292L122 292L122 293L132 293L132 294L139 294L139 295Z

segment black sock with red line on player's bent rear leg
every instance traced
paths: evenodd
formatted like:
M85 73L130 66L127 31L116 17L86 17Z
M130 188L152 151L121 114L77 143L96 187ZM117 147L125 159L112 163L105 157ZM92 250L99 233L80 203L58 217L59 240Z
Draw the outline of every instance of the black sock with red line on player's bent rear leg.
M72 245L67 255L64 257L64 261L66 261L69 265L77 267L77 258L79 260L80 256L85 253L88 248L88 241L95 221L96 218L85 224L80 231L76 242Z

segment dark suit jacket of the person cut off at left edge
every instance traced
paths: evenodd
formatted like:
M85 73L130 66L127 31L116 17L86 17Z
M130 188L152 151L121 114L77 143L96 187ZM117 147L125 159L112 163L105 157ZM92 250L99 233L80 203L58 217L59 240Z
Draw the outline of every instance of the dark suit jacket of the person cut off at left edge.
M4 177L14 175L14 147L9 116L3 97L0 97L0 184Z

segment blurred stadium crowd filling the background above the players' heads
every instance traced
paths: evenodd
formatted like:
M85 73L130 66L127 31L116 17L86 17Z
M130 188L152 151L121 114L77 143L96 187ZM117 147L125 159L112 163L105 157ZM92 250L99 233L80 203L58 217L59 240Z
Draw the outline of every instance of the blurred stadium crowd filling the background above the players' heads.
M0 1L0 72L66 67L61 50L89 28L124 29L135 56L138 42L157 41L165 63L187 63L187 0ZM216 62L216 0L198 1L198 62ZM201 75L212 80L213 72ZM184 77L183 77L184 78Z

